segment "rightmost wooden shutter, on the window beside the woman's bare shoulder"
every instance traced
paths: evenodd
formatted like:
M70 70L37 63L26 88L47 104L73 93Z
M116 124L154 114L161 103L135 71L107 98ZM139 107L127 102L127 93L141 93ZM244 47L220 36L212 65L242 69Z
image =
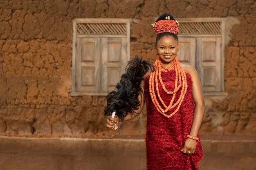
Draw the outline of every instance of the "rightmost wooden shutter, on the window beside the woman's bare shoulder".
M221 38L197 38L197 66L203 91L221 91Z

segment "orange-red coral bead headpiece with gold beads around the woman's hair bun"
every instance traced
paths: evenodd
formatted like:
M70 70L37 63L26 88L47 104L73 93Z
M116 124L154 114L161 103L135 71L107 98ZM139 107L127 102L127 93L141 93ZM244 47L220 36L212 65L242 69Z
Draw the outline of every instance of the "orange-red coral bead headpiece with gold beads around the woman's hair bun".
M179 22L177 20L170 20L170 16L166 17L165 20L159 20L154 24L151 24L157 34L159 33L179 33Z

